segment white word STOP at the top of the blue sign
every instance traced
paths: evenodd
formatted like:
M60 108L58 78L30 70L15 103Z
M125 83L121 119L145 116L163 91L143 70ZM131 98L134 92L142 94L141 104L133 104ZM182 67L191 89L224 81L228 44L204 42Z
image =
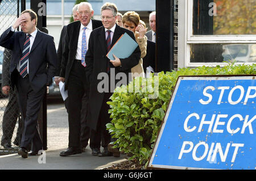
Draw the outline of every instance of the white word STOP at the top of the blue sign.
M226 86L220 86L218 87L218 90L221 90L220 92L220 95L218 96L218 102L217 104L221 104L223 102L221 102L222 98L223 98L223 95L224 95L224 92L226 90L229 90L230 87L226 87ZM204 99L200 99L199 102L201 104L209 104L210 102L212 102L212 99L213 99L213 96L212 94L210 94L210 91L208 90L211 90L211 91L214 91L215 88L213 86L207 86L204 88L203 90L203 95L206 96L208 98L208 100L204 100ZM240 91L240 96L237 100L233 100L232 99L232 95L234 93L234 91ZM254 90L254 94L252 93ZM241 100L243 99L243 96L245 95L245 89L242 87L242 86L236 86L236 87L233 87L230 91L229 91L229 94L228 94L228 103L229 104L232 104L232 105L235 105L235 104L238 104L241 102ZM249 86L247 91L246 91L246 95L245 95L245 99L243 101L243 105L246 105L247 102L248 102L248 99L253 99L256 97L256 86Z

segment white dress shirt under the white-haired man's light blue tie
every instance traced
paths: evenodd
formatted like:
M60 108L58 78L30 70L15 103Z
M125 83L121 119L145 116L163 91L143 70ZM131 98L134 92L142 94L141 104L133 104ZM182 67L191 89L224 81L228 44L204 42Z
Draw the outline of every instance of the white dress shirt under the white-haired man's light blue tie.
M82 30L82 28L84 28L84 27L85 26L83 26L81 23L81 27L80 27L80 31L79 31L79 40L78 40L77 50L76 50L76 59L77 60L82 59L82 32L84 32L84 30ZM86 30L85 30L86 50L88 49L89 37L90 37L91 32L92 32L92 19L90 19L90 22L87 24Z

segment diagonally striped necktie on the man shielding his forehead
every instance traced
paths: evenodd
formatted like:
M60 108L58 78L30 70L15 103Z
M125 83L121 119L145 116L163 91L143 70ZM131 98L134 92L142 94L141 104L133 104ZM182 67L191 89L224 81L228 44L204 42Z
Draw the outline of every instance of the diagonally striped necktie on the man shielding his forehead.
M24 78L27 75L28 54L30 54L30 37L27 35L23 45L22 58L19 61L19 74Z

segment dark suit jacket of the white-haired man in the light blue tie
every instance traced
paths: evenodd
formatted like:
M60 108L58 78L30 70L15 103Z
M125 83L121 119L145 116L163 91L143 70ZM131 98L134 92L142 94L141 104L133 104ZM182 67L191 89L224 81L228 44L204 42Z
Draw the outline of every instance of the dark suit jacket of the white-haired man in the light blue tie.
M93 30L101 26L102 26L102 22L100 20L92 19ZM68 77L76 57L80 27L81 27L80 21L72 22L67 26L67 35L65 37L65 45L64 45L65 48L63 52L61 69L60 69L60 77L65 78L65 90L68 89Z

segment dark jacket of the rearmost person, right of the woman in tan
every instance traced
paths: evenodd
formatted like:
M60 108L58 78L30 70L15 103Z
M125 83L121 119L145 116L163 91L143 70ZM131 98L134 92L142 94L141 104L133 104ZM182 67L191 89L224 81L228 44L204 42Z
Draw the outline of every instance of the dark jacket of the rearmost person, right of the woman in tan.
M143 70L146 73L148 66L151 66L155 70L155 43L147 40L147 54L143 58Z

